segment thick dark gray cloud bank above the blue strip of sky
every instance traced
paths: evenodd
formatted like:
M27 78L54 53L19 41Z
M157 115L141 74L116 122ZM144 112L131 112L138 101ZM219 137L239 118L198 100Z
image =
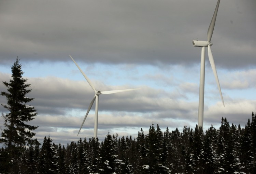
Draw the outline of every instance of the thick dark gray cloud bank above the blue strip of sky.
M206 39L215 5L201 0L3 1L0 62L17 55L63 61L72 54L87 63L198 63L200 49L191 41ZM255 65L254 5L253 0L221 2L212 39L218 66Z

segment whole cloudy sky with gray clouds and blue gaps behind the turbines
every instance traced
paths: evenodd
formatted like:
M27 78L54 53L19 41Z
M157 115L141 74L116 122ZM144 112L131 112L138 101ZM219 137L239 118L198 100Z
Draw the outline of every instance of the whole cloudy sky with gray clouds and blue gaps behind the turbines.
M99 96L98 137L136 138L158 123L164 131L197 124L201 48L217 0L3 0L0 2L0 81L9 82L17 56L38 110L36 138L66 145L93 137L94 108L77 132L94 91L140 88ZM256 1L220 2L212 53L207 50L204 131L221 118L244 126L256 111ZM0 90L5 91L3 84ZM6 99L0 96L0 103ZM3 107L0 111L5 113ZM0 119L1 126L3 119ZM3 126L2 126L3 128Z

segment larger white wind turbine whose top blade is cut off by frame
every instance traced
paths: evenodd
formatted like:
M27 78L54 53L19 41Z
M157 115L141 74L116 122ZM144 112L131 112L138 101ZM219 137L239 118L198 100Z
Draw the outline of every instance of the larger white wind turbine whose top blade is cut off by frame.
M213 17L212 17L212 21L210 23L208 32L207 32L207 41L201 41L201 40L193 40L193 45L195 47L202 47L202 51L201 51L201 70L200 70L200 86L199 86L199 107L198 107L198 127L201 126L203 128L203 103L204 103L204 68L205 68L205 47L208 47L208 57L209 57L209 61L215 76L215 80L217 82L218 88L219 88L219 94L221 94L221 100L224 105L224 101L223 101L223 97L222 97L222 92L221 92L221 86L219 85L219 79L218 79L218 75L217 75L217 71L216 71L216 67L215 67L215 63L213 60L213 55L212 55L212 51L211 51L211 38L212 38L212 34L213 34L213 30L214 30L214 25L215 25L215 21L216 21L216 16L217 16L217 12L218 12L218 8L219 8L219 1L217 2Z

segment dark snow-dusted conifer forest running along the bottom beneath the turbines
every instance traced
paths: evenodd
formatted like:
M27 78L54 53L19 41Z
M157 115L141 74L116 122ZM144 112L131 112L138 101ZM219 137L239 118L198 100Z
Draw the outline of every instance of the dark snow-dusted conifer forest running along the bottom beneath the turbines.
M164 132L152 124L148 134L141 129L135 139L106 135L104 141L86 138L65 146L52 143L48 136L29 148L23 148L15 163L6 161L8 154L0 150L0 171L27 174L89 174L89 173L246 173L256 172L256 119L248 119L245 127L211 126L203 133L201 127L184 126ZM10 170L11 167L11 170ZM1 173L1 172L0 172Z

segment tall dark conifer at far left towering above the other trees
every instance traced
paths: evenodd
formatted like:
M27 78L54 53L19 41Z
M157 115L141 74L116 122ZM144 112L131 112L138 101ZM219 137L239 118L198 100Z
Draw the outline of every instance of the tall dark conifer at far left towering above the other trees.
M26 84L27 79L22 77L24 72L18 58L11 67L11 71L12 80L9 83L3 82L7 91L1 92L1 95L6 97L7 100L7 105L2 104L2 106L9 112L2 114L5 128L1 133L0 143L7 147L7 151L10 154L9 159L6 160L9 160L9 162L13 160L15 163L15 158L21 155L23 146L35 143L36 140L32 139L35 135L33 130L37 129L38 126L27 124L37 115L37 110L28 105L34 99L26 97L26 94L31 92L31 89L27 89L30 84ZM9 168L14 169L12 167Z

